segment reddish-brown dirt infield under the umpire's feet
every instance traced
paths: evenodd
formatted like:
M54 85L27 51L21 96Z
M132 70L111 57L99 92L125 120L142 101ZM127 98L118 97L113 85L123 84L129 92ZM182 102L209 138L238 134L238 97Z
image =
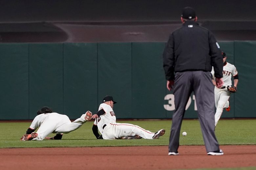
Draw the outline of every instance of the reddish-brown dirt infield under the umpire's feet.
M8 148L0 149L0 169L194 169L256 167L256 145L221 146L222 156L208 156L204 146Z

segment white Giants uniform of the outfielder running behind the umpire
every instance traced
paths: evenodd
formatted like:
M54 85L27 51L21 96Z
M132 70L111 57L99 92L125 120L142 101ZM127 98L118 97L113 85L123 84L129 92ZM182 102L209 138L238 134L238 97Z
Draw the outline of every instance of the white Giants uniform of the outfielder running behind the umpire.
M223 109L228 108L229 106L228 99L230 97L230 92L227 91L227 87L232 86L231 76L236 76L237 73L238 72L234 65L226 62L226 65L223 66L223 81L224 81L223 87L217 88L215 86L214 88L215 107L216 107L215 126L217 125L222 115ZM212 68L211 74L213 76L213 79L215 80L213 68Z

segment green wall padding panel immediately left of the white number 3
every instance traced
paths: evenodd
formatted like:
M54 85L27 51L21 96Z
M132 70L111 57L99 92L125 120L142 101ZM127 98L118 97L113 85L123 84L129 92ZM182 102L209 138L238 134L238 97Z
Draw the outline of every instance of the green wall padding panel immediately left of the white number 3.
M165 76L162 53L165 43L132 43L132 117L166 118L163 108Z

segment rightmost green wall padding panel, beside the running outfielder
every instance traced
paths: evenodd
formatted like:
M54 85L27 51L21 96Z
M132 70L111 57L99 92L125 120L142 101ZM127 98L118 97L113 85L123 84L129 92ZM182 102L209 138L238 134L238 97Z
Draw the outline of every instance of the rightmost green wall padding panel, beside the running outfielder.
M235 95L235 117L256 117L256 42L235 42L235 66L239 75L237 92Z

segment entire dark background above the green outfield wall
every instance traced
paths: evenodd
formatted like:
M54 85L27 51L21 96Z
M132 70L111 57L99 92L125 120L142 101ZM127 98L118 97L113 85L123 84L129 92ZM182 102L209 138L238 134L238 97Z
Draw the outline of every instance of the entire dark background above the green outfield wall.
M2 0L0 42L165 42L186 6L218 41L256 40L255 0Z

